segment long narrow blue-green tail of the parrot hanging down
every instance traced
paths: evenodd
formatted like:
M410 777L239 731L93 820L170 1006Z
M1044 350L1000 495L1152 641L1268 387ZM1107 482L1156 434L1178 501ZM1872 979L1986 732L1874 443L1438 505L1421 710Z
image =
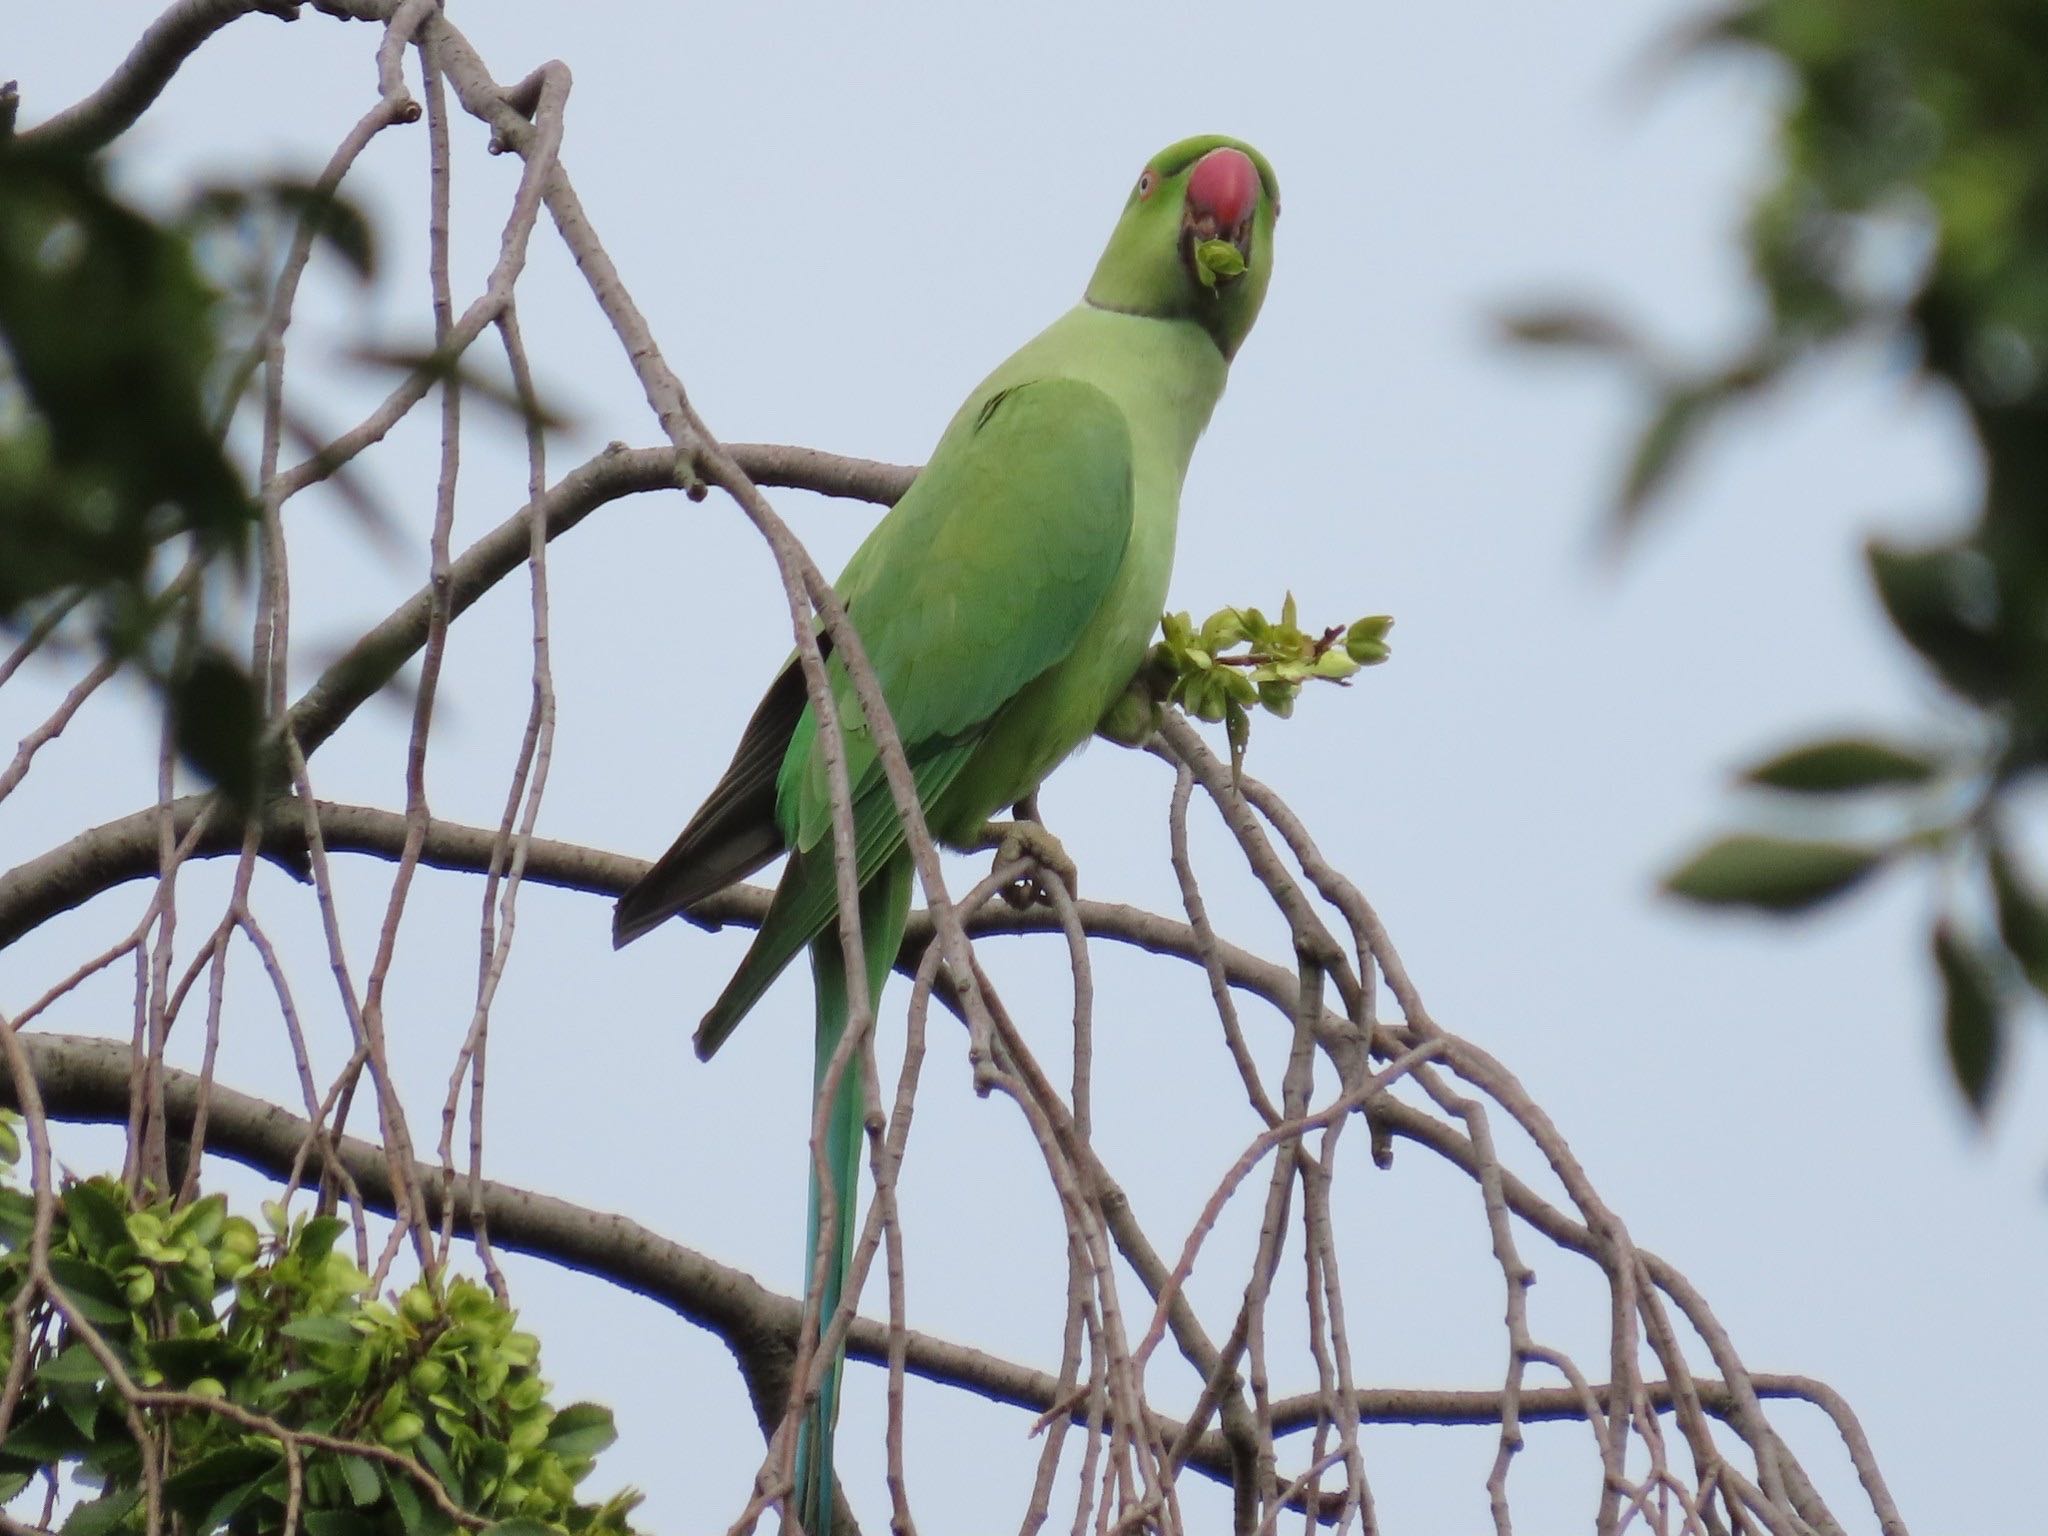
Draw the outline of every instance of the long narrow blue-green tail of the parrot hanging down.
M889 979L889 967L903 942L909 915L909 854L897 852L860 891L860 940L868 961L868 1006L872 1008ZM823 1090L825 1067L846 1034L846 961L840 954L840 928L834 924L811 940L811 973L817 981L817 1090ZM838 1212L831 1233L831 1264L825 1270L825 1294L817 1325L823 1329L838 1311L846 1290L846 1272L854 1262L854 1233L860 1231L860 1208L854 1198L860 1188L862 1143L860 1057L840 1077L831 1098L831 1118L825 1124L825 1163L831 1169L831 1202ZM817 1268L819 1239L817 1163L811 1163L811 1206L803 1239L803 1284L809 1288ZM831 1536L831 1432L840 1419L840 1376L846 1354L840 1352L825 1372L817 1407L797 1434L797 1518L805 1536Z

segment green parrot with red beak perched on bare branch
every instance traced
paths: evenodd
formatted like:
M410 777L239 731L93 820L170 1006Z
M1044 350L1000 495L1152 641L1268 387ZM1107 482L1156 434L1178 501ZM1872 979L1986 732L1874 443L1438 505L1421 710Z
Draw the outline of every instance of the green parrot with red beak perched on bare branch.
M954 414L930 463L874 524L836 590L866 647L932 834L950 848L1030 850L1071 874L1034 823L989 817L1036 791L1139 670L1174 565L1180 487L1272 276L1280 188L1266 158L1196 137L1139 174L1079 305L1026 342ZM909 913L911 860L874 741L842 664L827 672L854 797L868 997ZM676 844L618 897L614 944L788 852L739 971L705 1014L711 1057L809 946L815 1073L848 1022L836 928L831 803L817 719L795 659L768 686L731 766ZM858 1059L827 1122L840 1305L854 1243ZM819 1243L813 1167L805 1278ZM831 1536L834 1362L797 1440L797 1518Z

